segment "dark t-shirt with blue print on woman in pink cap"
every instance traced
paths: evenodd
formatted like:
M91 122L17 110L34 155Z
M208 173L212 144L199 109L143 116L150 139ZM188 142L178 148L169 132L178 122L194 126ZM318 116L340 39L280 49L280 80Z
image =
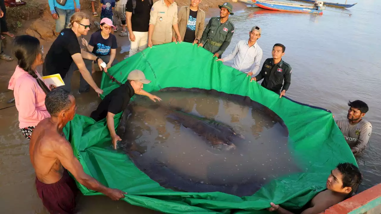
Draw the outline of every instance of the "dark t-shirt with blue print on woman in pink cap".
M89 45L93 46L93 54L96 56L106 56L110 55L111 49L117 49L117 38L110 34L109 38L104 39L102 37L101 31L97 31L94 34L91 34Z

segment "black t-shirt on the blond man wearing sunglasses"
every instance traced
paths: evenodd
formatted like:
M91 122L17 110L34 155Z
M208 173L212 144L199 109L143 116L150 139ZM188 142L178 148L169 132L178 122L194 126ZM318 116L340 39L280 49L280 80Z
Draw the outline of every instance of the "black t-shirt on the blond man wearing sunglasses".
M73 62L71 56L76 53L81 53L77 35L72 29L63 29L46 54L43 75L59 73L64 78Z

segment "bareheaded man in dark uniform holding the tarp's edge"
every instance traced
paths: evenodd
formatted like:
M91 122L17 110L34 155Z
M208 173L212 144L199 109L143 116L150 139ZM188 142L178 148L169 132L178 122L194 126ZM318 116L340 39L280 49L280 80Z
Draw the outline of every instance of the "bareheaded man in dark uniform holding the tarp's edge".
M266 59L261 72L256 77L250 79L250 82L264 79L261 86L277 94L280 93L279 98L286 94L291 84L291 66L282 60L285 50L286 47L284 45L275 44L272 48L272 58ZM282 92L280 92L281 89Z

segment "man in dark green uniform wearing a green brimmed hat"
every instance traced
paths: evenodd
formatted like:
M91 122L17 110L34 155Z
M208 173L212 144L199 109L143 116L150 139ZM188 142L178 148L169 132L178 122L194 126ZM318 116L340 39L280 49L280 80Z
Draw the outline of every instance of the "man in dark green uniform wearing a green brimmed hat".
M199 47L204 47L206 50L213 53L213 57L221 59L221 55L229 46L234 33L234 25L229 21L229 15L232 13L233 6L225 2L218 6L219 17L212 17L205 28Z

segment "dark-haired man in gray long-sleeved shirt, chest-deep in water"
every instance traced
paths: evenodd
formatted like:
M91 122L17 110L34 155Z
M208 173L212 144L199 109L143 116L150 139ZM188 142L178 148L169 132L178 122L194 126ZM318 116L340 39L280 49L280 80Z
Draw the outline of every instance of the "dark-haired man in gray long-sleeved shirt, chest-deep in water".
M347 119L336 120L354 155L359 155L368 144L372 125L362 117L368 112L368 105L360 100L348 102Z

